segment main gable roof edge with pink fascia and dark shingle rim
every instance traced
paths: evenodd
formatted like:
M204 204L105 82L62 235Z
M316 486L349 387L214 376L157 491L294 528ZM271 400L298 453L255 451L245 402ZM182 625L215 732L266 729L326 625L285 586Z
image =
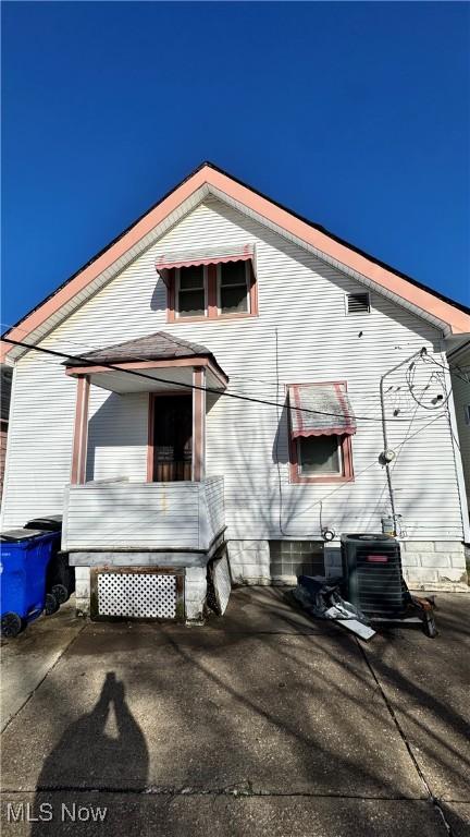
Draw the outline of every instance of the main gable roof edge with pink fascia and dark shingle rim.
M433 323L447 336L470 332L470 310L467 306L358 250L324 227L285 208L213 163L203 162L44 302L5 331L3 338L26 340L28 337L35 342L44 337L75 306L84 302L87 295L98 290L100 282L108 281L208 194L213 194L245 211L323 260L348 272L358 281L391 296L398 304ZM11 348L11 344L2 343L2 359Z

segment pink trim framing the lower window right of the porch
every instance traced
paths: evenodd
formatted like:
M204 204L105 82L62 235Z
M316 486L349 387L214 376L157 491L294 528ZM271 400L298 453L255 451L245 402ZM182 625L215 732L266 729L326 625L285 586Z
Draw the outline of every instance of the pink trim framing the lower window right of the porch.
M325 386L326 384L333 384L339 395L342 391L342 387L347 389L347 381L346 380L322 380L318 381L318 386ZM296 400L295 407L300 407L300 401L298 397L298 390L300 387L305 386L316 386L316 384L296 384L296 385L288 385L286 387L287 395L290 391L294 391L294 398ZM301 427L301 418L300 418L300 427ZM352 430L355 433L355 429ZM338 474L337 476L304 476L299 472L299 464L297 460L297 439L299 438L308 438L309 436L338 436L339 445L342 449L342 462L343 462L343 474ZM319 433L319 432L306 432L306 433L297 433L294 435L292 430L292 423L290 423L290 412L288 413L288 444L289 444L289 482L294 484L304 484L304 483L352 483L354 482L354 468L352 468L352 442L351 442L351 434L345 433L345 428L341 427L338 430L330 430L329 433Z

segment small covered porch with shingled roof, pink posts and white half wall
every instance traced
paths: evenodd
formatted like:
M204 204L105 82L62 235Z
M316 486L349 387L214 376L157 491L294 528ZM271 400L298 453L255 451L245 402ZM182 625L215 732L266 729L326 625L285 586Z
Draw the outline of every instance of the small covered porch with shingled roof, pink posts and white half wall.
M156 595L161 579L170 583L172 572L175 591L184 590L190 570L191 579L198 578L199 598L203 598L206 567L223 546L225 531L223 476L206 475L207 393L222 392L227 376L208 349L161 331L90 352L65 366L77 386L62 530L62 548L71 565L87 568L91 578L120 568L128 578L133 573L134 585L140 570L146 589L150 582L157 585ZM129 393L147 397L146 478L87 481L91 387L118 398ZM119 459L119 448L114 450ZM132 598L127 590L126 606L132 610L129 595Z

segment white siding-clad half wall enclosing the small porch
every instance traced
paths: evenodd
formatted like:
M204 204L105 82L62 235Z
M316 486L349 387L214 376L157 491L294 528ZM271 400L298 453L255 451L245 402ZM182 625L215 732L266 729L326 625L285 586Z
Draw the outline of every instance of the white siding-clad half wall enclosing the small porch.
M225 525L223 477L86 483L65 492L62 549L209 549Z

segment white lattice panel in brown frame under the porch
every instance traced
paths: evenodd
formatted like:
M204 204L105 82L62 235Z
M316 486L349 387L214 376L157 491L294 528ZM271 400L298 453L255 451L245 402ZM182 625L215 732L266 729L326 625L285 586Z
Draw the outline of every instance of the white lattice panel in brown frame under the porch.
M176 577L157 572L99 572L98 614L174 619Z

